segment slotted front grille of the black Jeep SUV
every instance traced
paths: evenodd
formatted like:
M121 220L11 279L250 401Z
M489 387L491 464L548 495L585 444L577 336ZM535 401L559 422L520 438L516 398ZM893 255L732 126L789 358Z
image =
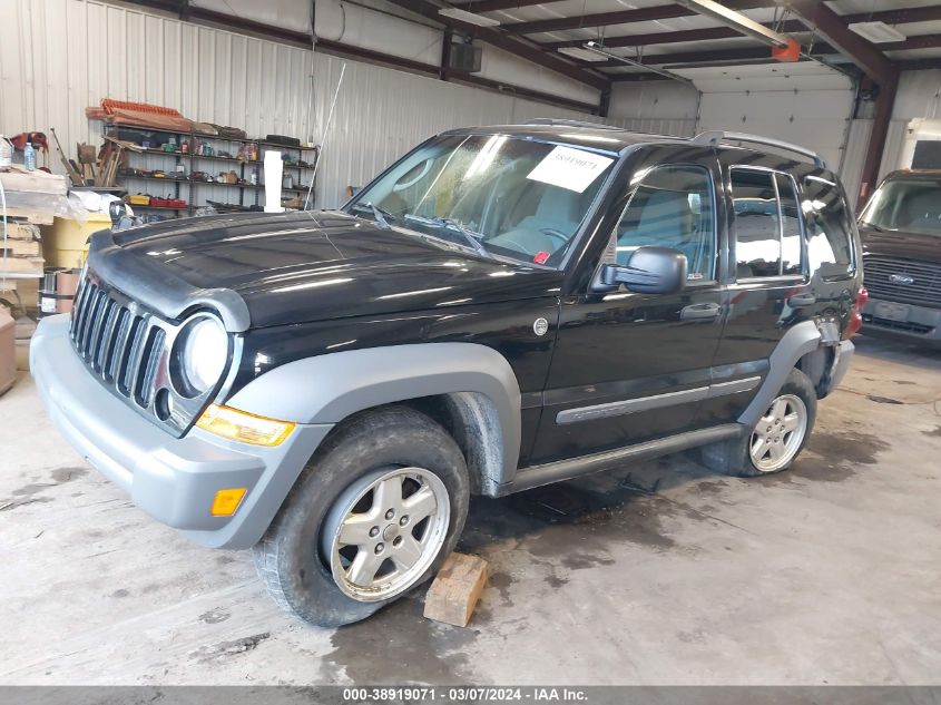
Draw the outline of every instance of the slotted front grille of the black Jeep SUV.
M72 309L70 335L76 352L102 382L140 409L149 408L166 341L156 319L86 278Z

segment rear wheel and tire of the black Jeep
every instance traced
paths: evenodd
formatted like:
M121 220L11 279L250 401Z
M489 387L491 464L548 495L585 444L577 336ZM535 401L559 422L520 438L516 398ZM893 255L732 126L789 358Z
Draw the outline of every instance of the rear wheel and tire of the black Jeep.
M816 419L816 391L797 369L791 370L768 409L742 438L700 449L703 464L715 472L754 478L790 468L811 435Z

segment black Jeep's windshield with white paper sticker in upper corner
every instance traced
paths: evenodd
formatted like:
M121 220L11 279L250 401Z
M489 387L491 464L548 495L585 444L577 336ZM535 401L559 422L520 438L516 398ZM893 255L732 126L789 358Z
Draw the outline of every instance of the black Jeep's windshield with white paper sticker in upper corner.
M558 266L615 157L507 135L444 136L346 210L474 249Z

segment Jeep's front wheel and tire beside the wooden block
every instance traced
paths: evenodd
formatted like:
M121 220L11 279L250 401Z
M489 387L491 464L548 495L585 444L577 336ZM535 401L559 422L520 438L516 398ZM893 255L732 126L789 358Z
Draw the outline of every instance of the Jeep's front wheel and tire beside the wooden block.
M454 440L405 407L344 422L304 469L255 565L275 601L323 627L365 619L434 575L467 518Z

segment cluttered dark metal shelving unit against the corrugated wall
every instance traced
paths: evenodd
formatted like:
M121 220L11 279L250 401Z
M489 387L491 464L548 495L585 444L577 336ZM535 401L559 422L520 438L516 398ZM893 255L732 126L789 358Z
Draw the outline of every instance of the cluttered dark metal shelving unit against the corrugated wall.
M235 189L237 195L233 194L235 198L232 196L227 196L226 202L233 206L261 206L261 192L264 190L264 151L266 149L277 150L282 154L292 154L296 155L294 163L284 163L284 173L285 174L294 174L295 178L295 186L293 187L285 187L282 186L281 193L282 198L285 193L293 194L293 195L301 195L306 194L310 179L314 176L314 170L316 166L316 160L320 157L320 150L317 147L293 147L291 145L283 145L281 143L273 143L265 139L251 139L251 138L238 138L238 137L222 137L222 136L214 136L214 135L204 135L202 133L179 133L166 129L157 129L153 127L146 127L143 125L125 125L125 124L105 124L105 135L109 137L114 137L117 139L131 141L137 145L144 144L171 144L170 138L174 138L176 144L176 149L170 151L163 148L154 148L147 147L139 151L131 151L128 150L126 154L128 155L128 166L134 169L140 170L161 170L168 176L159 177L154 176L153 174L134 174L127 172L119 172L118 179L122 183L127 193L133 195L137 193L147 193L148 190L155 189L147 189L147 188L135 188L135 182L147 182L147 183L163 183L167 186L171 186L171 192L161 192L159 194L154 194L159 197L171 196L173 198L184 198L186 200L186 207L174 207L174 206L154 206L154 205L134 205L135 209L144 209L144 210L164 210L164 212L175 212L178 214L187 214L193 215L193 213L204 206L207 205L205 203L198 203L199 197L202 196L199 186L204 187L213 187L213 188L226 188L226 189ZM188 150L183 151L183 144L188 144ZM227 153L226 155L218 155L218 154L196 154L196 145L198 144L209 145L213 148L213 151L224 151ZM257 159L244 159L238 158L236 155L238 153L237 147L233 147L233 145L256 145L258 151ZM306 159L305 155L313 155L313 159ZM228 156L231 155L231 156ZM135 157L146 157L150 159L150 164L153 164L154 158L165 158L167 160L173 159L173 161L167 161L166 164L169 165L168 168L164 166L158 167L150 167L150 164L143 165L143 166L135 166L133 159ZM210 164L231 164L237 165L236 168L229 169L216 169L218 170L233 170L237 172L237 176L239 183L236 184L227 184L224 182L217 180L206 180L203 178L193 178L194 173L204 172L210 174L214 178L218 176L218 174L213 174L212 169L208 168L199 168L200 161L203 163L210 163ZM300 163L304 161L304 165ZM173 174L177 172L177 167L179 165L184 166L184 170L186 174L186 178L174 178ZM257 184L251 183L252 173L257 173ZM302 184L302 180L308 182L307 184ZM186 188L185 193L183 188ZM204 193L208 190L208 188L203 189ZM231 193L231 192L229 192Z

